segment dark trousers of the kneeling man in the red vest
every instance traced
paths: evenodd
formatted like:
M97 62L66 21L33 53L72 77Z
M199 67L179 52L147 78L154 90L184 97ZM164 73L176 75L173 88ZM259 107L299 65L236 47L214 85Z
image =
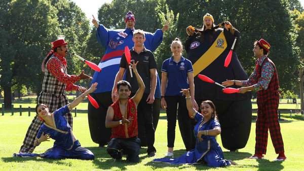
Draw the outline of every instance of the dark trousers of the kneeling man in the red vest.
M140 140L137 137L128 139L111 139L108 143L106 151L115 159L121 159L123 154L127 155L130 162L139 162ZM122 154L123 153L123 154Z

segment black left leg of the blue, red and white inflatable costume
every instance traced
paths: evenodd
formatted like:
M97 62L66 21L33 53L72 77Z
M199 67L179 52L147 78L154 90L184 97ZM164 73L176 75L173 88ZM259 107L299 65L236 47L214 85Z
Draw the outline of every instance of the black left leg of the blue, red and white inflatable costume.
M105 127L105 116L108 107L113 103L111 92L91 93L91 96L98 102L96 109L88 101L88 121L91 139L94 143L104 146L110 141L111 128Z

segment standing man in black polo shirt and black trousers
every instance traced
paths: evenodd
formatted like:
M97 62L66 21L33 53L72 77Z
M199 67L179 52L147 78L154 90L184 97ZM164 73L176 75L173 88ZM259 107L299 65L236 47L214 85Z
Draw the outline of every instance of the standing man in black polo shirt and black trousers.
M154 102L154 94L156 89L156 61L154 54L147 50L143 42L145 41L144 32L140 29L133 32L134 47L130 50L131 61L134 60L137 64L137 71L145 85L144 94L137 106L137 123L138 123L138 138L147 139L147 153L154 156L156 149L154 147L155 130L153 128L152 118L152 104ZM126 70L127 69L127 70ZM126 71L126 80L131 84L131 96L137 91L138 83L135 77L131 77L130 70L128 70L128 63L125 54L123 54L120 62L120 70L116 75L114 85L123 79ZM131 71L133 72L133 71ZM134 76L134 73L133 73ZM116 86L113 86L113 92L117 92ZM117 93L116 93L117 94Z

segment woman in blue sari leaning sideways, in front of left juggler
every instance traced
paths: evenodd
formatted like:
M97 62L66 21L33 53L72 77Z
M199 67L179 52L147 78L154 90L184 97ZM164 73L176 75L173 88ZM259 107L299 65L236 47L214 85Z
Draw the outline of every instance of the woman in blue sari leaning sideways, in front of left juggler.
M44 123L37 133L34 146L39 146L42 142L49 141L49 139L55 140L54 146L42 154L19 153L13 156L94 160L94 154L90 150L81 147L64 115L78 106L89 93L94 92L96 86L97 83L92 84L88 90L75 98L70 104L55 110L53 113L50 113L49 108L45 104L37 104L35 109L37 117Z

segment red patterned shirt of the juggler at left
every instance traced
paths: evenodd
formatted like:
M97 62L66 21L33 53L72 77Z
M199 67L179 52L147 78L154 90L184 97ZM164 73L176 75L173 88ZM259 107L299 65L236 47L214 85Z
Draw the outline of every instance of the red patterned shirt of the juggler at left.
M78 90L75 82L81 80L77 75L68 75L66 73L66 59L60 54L54 52L54 57L51 57L47 62L47 70L54 76L59 82L66 84L65 91Z

